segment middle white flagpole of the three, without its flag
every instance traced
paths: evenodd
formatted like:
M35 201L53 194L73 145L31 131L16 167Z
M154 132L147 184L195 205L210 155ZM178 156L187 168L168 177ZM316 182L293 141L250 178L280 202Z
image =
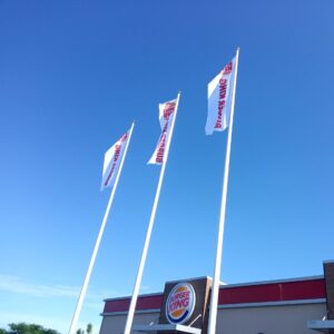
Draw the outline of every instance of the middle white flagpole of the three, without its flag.
M173 137L173 131L174 131L174 125L175 125L177 109L178 109L179 97L180 97L180 92L178 92L178 95L177 95L177 100L176 100L176 106L175 106L175 115L174 115L174 119L173 119L173 122L171 122L171 126L170 126L170 136L167 138L167 143L166 143L166 150L165 150L166 156L164 155L163 166L161 166L161 169L160 169L160 176L159 176L159 181L158 181L158 186L157 186L157 193L156 193L155 202L154 202L154 205L153 205L153 209L151 209L151 214L150 214L150 218L149 218L149 223L148 223L148 227L147 227L145 244L144 244L143 254L141 254L141 258L140 258L140 263L139 263L139 267L138 267L137 278L136 278L136 283L135 283L135 287L134 287L134 292L132 292L131 303L130 303L129 313L128 313L127 323L126 323L126 326L125 326L124 334L130 334L132 322L134 322L135 308L136 308L136 304L137 304L137 298L138 298L138 294L139 294L143 272L144 272L146 257L147 257L147 250L148 250L148 246L149 246L149 240L150 240L151 230L153 230L154 223L155 223L155 217L156 217L157 206L158 206L158 202L159 202L161 185L163 185L163 180L164 180L164 174L165 174L165 168L166 168L167 158L168 158L169 145L170 145L170 140L171 140L171 137Z

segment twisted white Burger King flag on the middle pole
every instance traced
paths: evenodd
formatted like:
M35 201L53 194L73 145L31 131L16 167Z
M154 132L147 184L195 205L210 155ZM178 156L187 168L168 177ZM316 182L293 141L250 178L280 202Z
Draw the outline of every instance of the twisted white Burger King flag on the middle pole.
M175 117L176 99L159 104L159 121L161 127L161 135L157 147L149 159L148 164L161 165L165 160L165 150L168 137L170 136L170 126Z

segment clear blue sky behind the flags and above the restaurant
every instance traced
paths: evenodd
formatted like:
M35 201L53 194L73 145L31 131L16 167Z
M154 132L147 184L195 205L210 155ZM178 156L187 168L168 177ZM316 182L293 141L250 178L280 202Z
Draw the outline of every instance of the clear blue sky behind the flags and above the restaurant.
M183 91L143 293L213 275L226 132L206 86L240 47L222 279L322 274L333 258L334 3L0 1L0 326L66 333L136 120L81 324L132 291L159 167L158 104Z

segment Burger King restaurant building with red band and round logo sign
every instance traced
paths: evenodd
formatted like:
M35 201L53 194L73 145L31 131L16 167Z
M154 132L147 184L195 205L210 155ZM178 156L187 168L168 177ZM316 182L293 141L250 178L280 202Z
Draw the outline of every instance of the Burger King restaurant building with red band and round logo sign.
M167 282L164 293L138 297L131 333L206 334L212 279ZM100 334L121 334L130 297L105 299ZM222 285L220 334L334 334L334 261L324 275Z

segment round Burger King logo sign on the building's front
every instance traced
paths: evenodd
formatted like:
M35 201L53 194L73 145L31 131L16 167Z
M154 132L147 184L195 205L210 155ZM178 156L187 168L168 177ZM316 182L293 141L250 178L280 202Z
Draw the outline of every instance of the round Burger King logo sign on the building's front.
M194 287L180 283L173 287L166 302L166 317L170 324L183 324L193 314L196 304Z

